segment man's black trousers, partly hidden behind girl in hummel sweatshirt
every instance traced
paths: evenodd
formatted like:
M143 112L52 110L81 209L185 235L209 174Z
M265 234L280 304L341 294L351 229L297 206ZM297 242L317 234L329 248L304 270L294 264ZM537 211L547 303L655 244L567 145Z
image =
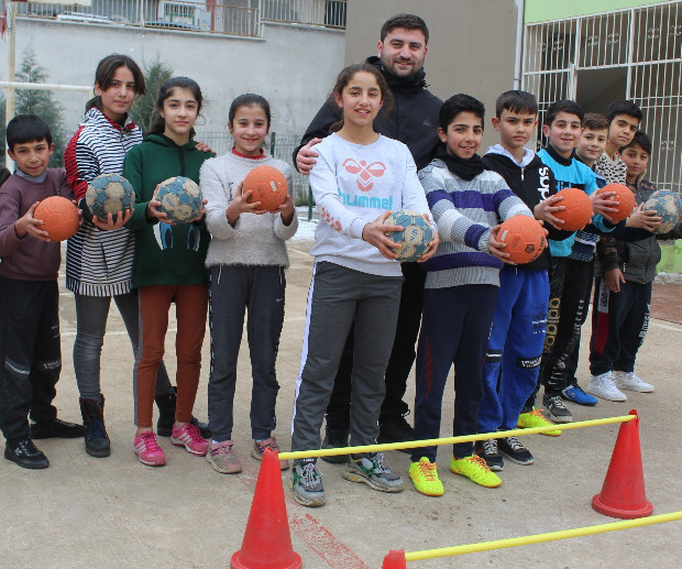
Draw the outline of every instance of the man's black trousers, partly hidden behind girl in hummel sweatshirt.
M400 418L409 411L403 401L407 391L407 379L415 362L415 344L421 324L421 305L424 302L424 283L426 273L418 263L403 263L403 287L396 335L386 368L386 396L382 404L380 424ZM351 370L353 369L353 350L355 336L354 326L351 327L339 371L334 380L331 398L327 405L327 428L346 431L351 416Z

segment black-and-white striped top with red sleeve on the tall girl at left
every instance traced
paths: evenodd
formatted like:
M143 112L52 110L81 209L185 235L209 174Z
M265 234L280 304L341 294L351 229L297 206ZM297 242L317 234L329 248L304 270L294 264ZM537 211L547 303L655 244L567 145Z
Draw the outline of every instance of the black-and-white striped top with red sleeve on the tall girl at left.
M129 293L135 238L128 229L100 231L88 221L85 194L100 174L121 174L125 153L142 142L129 118L123 127L90 109L64 152L68 183L86 221L66 248L66 287L76 294L111 296Z

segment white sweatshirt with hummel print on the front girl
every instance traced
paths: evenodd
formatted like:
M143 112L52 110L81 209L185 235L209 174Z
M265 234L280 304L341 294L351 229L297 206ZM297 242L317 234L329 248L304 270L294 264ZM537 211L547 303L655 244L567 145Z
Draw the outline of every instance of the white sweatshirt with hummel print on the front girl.
M386 211L429 212L408 147L383 135L372 144L353 144L334 133L315 150L319 157L310 172L310 186L320 221L310 254L316 262L400 276L400 264L363 241L362 232Z

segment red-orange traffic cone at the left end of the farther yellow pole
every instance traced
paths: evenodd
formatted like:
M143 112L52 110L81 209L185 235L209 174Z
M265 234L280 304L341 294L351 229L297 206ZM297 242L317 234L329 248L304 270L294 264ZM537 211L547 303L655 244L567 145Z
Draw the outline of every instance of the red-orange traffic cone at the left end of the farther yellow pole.
M232 569L298 569L300 556L292 547L277 453L265 449L242 548Z

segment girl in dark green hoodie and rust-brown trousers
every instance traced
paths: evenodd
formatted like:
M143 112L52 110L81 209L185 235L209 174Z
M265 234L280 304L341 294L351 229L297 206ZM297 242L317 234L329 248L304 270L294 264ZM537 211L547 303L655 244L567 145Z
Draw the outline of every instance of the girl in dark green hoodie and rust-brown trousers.
M204 208L191 222L172 225L156 199L158 184L169 177L185 176L199 183L199 168L211 156L197 150L193 140L201 101L201 90L193 79L166 80L156 101L156 122L144 142L129 152L123 166L123 175L139 196L125 226L136 233L133 287L139 288L142 336L133 445L140 461L153 467L166 463L152 429L152 412L156 370L163 359L173 302L177 317L177 404L170 440L193 455L204 456L208 448L208 441L190 419L206 330L208 278L204 263L210 234L204 222Z

